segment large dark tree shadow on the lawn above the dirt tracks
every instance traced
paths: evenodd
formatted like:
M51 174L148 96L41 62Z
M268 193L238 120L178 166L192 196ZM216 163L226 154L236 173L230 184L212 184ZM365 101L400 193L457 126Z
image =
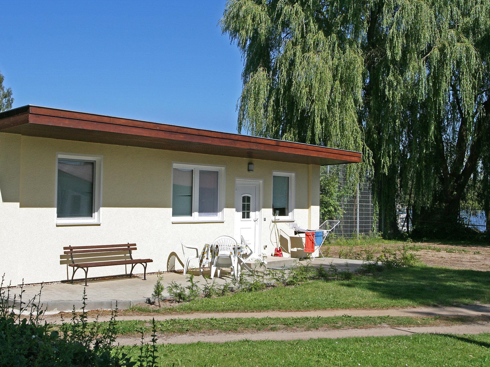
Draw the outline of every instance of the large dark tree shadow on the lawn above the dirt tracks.
M360 276L344 283L383 298L409 299L424 305L490 303L490 272L413 266Z

